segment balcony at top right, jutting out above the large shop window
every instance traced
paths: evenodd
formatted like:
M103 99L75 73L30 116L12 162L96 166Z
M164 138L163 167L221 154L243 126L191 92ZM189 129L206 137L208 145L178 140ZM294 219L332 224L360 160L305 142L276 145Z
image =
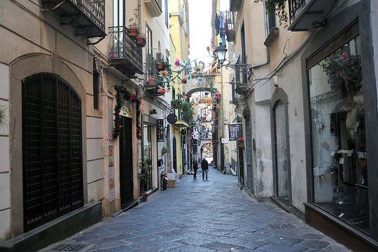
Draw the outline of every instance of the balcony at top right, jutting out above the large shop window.
M332 6L329 0L289 0L289 30L307 31L326 25L326 13Z

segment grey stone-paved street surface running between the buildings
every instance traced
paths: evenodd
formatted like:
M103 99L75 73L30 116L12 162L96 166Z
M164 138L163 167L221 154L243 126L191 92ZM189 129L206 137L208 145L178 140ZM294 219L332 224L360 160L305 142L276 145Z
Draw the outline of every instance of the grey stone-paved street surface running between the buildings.
M175 188L41 250L52 251L350 251L272 202L256 202L235 176L209 169Z

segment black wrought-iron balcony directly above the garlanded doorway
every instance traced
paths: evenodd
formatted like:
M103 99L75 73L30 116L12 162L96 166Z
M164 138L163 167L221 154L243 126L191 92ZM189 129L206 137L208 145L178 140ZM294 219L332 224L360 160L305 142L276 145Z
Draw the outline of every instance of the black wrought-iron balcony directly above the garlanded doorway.
M142 48L129 36L129 29L113 26L109 28L109 35L113 45L109 55L112 65L120 67L126 76L143 74Z

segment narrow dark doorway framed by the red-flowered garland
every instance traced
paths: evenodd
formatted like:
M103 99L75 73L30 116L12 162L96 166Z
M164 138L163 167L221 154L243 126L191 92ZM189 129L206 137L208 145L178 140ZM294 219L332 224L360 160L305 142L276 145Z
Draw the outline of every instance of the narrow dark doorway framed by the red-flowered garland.
M133 200L133 146L132 120L122 117L123 129L120 134L120 193L121 207Z

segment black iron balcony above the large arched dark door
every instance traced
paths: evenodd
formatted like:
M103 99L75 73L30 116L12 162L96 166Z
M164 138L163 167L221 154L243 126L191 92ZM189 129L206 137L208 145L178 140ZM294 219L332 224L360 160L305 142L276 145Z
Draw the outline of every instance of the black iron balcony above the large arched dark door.
M61 25L72 25L76 36L107 36L105 0L42 0L42 6L58 16Z

